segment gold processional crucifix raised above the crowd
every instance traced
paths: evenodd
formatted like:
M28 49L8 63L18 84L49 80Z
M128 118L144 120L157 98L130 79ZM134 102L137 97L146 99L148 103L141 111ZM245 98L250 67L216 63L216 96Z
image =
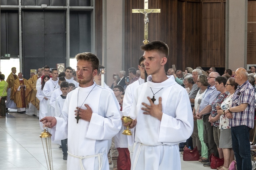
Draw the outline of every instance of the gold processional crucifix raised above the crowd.
M149 0L144 0L144 9L133 9L132 13L142 13L144 14L144 44L148 44L148 14L150 13L160 13L160 9L149 9Z

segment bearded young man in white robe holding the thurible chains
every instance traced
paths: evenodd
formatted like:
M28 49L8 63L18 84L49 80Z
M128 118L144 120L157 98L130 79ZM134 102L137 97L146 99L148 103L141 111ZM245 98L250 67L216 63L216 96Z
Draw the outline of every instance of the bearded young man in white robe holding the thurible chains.
M63 117L40 121L52 128L52 140L68 138L68 170L108 170L108 140L121 129L118 105L110 91L93 82L99 59L92 53L77 54L76 59L79 87L67 95Z

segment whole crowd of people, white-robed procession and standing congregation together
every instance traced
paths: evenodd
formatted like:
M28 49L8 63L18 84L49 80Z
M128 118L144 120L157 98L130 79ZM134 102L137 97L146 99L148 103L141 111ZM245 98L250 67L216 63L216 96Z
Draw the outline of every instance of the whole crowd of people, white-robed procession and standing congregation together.
M23 114L28 106L27 114L39 116L41 130L47 127L60 143L67 169L108 169L112 163L114 170L181 169L179 151L196 146L203 166L214 153L224 158L220 170L235 158L239 170L251 169L256 67L223 75L214 67L166 72L164 42L141 50L138 70L114 73L110 87L101 84L104 66L92 53L76 55L76 71L68 66L59 74L45 66L29 80L13 67L6 81L0 75L0 117L8 108ZM122 116L133 120L124 123ZM126 127L132 135L122 134Z

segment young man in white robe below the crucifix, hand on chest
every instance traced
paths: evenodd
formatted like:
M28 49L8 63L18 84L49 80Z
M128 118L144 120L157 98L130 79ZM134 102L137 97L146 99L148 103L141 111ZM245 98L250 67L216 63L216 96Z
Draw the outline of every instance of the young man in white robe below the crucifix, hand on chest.
M180 170L178 144L185 142L193 132L189 97L173 76L165 74L168 46L152 41L141 49L149 76L135 91L129 112L133 122L124 124L130 128L136 126L134 138L129 139L136 142L131 170Z

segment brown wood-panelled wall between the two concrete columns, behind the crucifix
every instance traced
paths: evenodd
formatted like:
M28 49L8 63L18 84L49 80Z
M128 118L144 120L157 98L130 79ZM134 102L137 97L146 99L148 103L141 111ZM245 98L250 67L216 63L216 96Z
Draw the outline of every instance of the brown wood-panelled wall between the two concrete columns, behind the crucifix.
M149 8L161 13L149 14L149 41L161 40L169 46L166 70L186 67L225 66L226 0L150 0ZM137 67L143 54L144 15L132 14L143 9L144 0L125 0L125 71Z

